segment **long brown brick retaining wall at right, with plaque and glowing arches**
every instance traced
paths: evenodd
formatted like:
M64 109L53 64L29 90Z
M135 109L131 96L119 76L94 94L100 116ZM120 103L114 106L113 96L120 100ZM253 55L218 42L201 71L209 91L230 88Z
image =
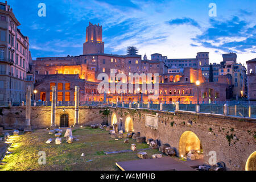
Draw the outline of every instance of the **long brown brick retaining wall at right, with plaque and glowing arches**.
M126 118L131 117L135 132L141 132L142 137L147 139L159 139L161 143L169 143L175 148L177 155L179 155L181 135L185 131L192 131L200 139L204 162L207 164L209 164L209 152L216 151L217 162L224 162L229 170L245 170L247 159L256 151L254 138L256 119L186 111L175 113L157 111L158 130L154 130L146 127L145 114L155 115L156 111L122 108L111 110L112 114L117 115L119 125L119 118L122 118L123 129L125 129ZM188 125L188 121L192 121L191 126ZM109 117L109 123L111 123L111 117Z

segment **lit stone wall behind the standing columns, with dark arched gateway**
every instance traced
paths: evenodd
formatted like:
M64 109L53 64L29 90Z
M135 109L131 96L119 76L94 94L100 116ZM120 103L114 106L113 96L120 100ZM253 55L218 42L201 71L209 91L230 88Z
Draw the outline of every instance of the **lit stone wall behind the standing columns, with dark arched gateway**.
M65 109L65 111L63 111ZM80 125L87 126L104 121L99 111L101 108L91 108L87 106L79 107ZM68 126L73 126L75 121L74 106L57 106L56 107L56 127L60 126L60 116L68 114ZM26 107L11 107L2 110L0 115L0 127L4 129L19 129L23 130L26 119ZM106 119L105 119L106 120ZM31 127L32 129L46 129L51 125L51 106L36 106L31 107Z

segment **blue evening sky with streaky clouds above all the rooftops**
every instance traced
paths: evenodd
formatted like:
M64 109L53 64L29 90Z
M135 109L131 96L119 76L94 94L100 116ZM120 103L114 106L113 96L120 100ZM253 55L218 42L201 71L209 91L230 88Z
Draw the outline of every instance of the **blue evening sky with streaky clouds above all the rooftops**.
M3 2L3 1L1 1ZM238 62L256 57L256 1L185 0L9 0L30 39L32 58L82 54L89 22L103 26L105 53L124 55L127 46L139 54L193 58L210 52L220 63L222 53L236 52ZM46 17L38 4L46 4ZM217 16L210 17L209 3Z

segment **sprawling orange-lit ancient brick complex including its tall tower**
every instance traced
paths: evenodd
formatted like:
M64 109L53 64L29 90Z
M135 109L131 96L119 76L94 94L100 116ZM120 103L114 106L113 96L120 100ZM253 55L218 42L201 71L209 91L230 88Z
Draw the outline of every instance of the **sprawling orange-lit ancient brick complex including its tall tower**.
M102 48L103 46L103 48ZM74 101L75 86L80 86L80 101L126 101L126 102L190 102L197 101L196 81L200 81L199 99L200 101L213 102L224 101L226 99L225 90L228 88L226 83L205 82L201 69L197 67L209 63L209 53L197 53L195 61L187 59L187 63L178 61L181 64L179 72L172 72L168 68L168 59L159 53L151 55L148 60L145 55L138 55L138 49L135 47L127 48L127 55L110 55L104 53L104 43L102 42L102 26L89 23L86 28L86 42L84 44L84 54L80 56L67 57L39 57L32 61L32 72L35 73L36 101L51 101L51 86L57 86L58 101ZM175 61L175 60L174 60ZM191 62L189 62L191 61ZM171 62L170 62L171 63ZM175 62L174 62L175 63ZM182 66L182 64L187 64ZM191 65L193 66L191 67ZM195 64L195 65L194 65ZM180 66L180 65L179 65ZM172 65L175 67L175 65ZM171 72L168 72L171 70ZM129 83L140 84L140 90L135 87L127 89L123 93L109 92L100 94L98 84L102 79L97 79L100 73L108 75L110 84L118 84L123 81L117 77L118 73L124 73L127 77L131 74L139 75L148 73L152 77L147 77L146 81L127 79L127 88ZM112 74L115 76L112 77ZM158 74L155 75L155 74ZM159 97L151 100L148 96L152 90L142 92L142 84L159 82Z

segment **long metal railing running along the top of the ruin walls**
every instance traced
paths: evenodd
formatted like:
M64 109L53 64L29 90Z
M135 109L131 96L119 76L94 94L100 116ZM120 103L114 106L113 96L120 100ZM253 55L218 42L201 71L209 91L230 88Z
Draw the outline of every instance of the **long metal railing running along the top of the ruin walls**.
M31 101L31 106L51 106L52 102L35 102ZM80 106L102 106L102 107L125 107L125 108L144 108L149 110L159 110L159 111L193 111L199 113L210 113L210 114L225 114L233 115L236 117L249 117L256 118L256 105L222 105L222 104L200 104L198 107L196 104L152 104L152 102L140 103L137 102L94 102L94 101L81 101ZM0 102L0 107L8 106L26 106L26 102ZM57 101L56 106L75 106L75 101ZM225 110L226 106L226 110Z

